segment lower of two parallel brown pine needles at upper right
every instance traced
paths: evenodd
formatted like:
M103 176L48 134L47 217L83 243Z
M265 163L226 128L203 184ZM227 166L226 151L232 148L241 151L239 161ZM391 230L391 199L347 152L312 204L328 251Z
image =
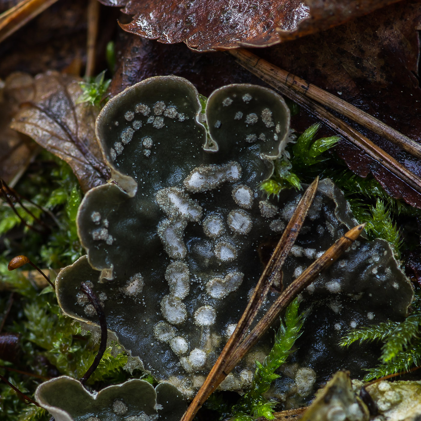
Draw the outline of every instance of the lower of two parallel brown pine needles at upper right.
M359 131L355 130L350 125L346 124L343 120L328 112L325 107L309 98L309 96L296 91L294 89L296 88L295 84L292 85L293 87L290 87L285 83L282 83L282 81L279 79L279 71L282 71L282 69L274 66L268 61L260 59L255 54L250 53L250 51L247 51L243 48L231 50L229 52L236 58L236 61L250 73L253 73L253 75L256 75L261 80L264 80L268 85L271 85L277 91L292 99L297 104L301 105L301 107L331 127L334 131L348 139L358 148L362 149L367 155L384 166L392 174L400 178L418 193L421 193L420 177L416 176L416 174L414 174L412 171L409 171L408 168L399 163L388 153L384 152L383 149L378 147ZM301 87L301 89L304 88ZM317 100L319 101L319 99ZM401 136L403 135L401 134Z

